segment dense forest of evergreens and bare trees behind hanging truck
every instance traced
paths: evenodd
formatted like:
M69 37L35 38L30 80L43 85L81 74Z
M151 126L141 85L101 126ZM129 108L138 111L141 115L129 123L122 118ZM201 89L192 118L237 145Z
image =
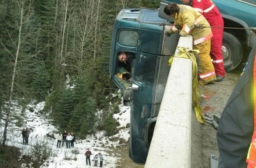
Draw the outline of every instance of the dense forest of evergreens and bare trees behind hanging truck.
M46 102L60 131L78 137L107 130L120 98L110 81L115 16L123 8L158 8L160 0L2 0L0 2L0 125L22 125L13 107ZM118 102L119 101L119 102ZM111 103L110 103L111 102ZM100 118L96 111L102 111ZM96 124L97 123L97 124Z

